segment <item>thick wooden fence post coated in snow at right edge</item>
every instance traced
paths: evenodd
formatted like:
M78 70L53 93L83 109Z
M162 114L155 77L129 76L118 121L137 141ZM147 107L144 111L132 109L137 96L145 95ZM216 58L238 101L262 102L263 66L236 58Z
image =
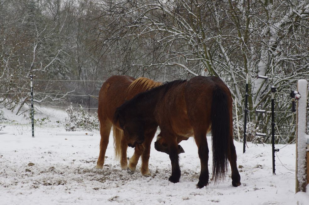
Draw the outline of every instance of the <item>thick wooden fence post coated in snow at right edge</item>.
M297 81L297 91L301 98L297 102L296 112L296 193L306 192L309 183L309 152L307 143L309 136L306 134L306 109L307 109L307 81Z

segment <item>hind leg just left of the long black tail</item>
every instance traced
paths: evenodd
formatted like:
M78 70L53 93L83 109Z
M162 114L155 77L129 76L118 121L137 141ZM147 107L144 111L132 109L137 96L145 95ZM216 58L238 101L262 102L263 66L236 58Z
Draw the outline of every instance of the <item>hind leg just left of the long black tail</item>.
M195 142L198 148L198 156L201 161L201 173L199 181L196 185L197 188L203 188L208 185L209 180L209 171L208 171L208 143L206 138L206 132L195 133L194 134Z

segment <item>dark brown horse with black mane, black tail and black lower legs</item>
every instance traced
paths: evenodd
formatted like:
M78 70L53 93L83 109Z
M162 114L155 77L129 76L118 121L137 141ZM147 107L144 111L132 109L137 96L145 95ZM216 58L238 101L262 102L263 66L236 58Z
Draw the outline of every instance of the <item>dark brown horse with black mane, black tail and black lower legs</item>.
M171 182L179 182L179 138L194 136L201 160L198 188L208 185L208 145L212 132L212 179L222 179L231 165L232 185L240 185L233 142L232 98L228 87L217 77L197 76L189 81L176 80L136 95L115 112L114 121L123 128L129 146L147 139L146 133L160 127L157 147L167 145L172 164Z

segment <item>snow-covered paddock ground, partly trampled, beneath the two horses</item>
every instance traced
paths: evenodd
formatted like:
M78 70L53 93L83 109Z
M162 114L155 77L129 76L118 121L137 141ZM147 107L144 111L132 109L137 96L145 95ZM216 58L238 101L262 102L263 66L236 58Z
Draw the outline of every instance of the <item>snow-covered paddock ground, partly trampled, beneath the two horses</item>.
M31 138L29 120L2 110L7 119L28 124L7 126L8 134L0 134L0 204L309 204L309 193L295 194L295 144L276 145L284 148L277 153L273 175L270 145L248 143L243 154L242 143L235 141L241 186L232 186L229 172L223 181L197 189L200 160L193 138L180 143L185 150L179 155L182 173L180 182L173 184L168 181L169 157L157 152L153 143L150 177L139 170L133 175L121 170L112 136L105 165L97 170L98 132L62 136L57 134L63 127L40 125ZM63 111L43 108L37 114L49 116L51 124L65 117ZM211 138L207 139L211 149ZM128 148L128 156L133 151Z

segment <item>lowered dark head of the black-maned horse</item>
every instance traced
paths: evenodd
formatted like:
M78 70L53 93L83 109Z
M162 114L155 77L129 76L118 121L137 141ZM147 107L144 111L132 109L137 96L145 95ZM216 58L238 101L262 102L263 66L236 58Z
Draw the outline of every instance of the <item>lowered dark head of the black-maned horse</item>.
M130 113L128 109L117 108L114 123L119 123L119 126L123 129L124 139L127 141L128 146L134 148L136 144L144 142L144 125L140 119L132 115L134 112Z

